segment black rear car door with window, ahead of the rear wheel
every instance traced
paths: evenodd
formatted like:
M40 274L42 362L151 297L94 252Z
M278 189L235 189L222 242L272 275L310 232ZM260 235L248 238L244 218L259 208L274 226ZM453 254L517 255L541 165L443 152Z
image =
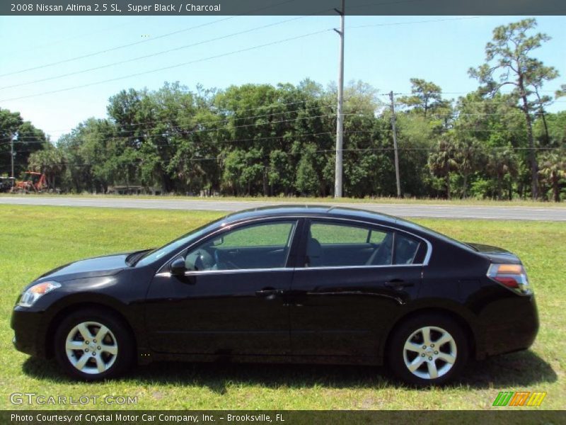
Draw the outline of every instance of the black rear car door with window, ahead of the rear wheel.
M427 246L395 229L308 220L291 285L291 352L377 356L383 331L417 295Z

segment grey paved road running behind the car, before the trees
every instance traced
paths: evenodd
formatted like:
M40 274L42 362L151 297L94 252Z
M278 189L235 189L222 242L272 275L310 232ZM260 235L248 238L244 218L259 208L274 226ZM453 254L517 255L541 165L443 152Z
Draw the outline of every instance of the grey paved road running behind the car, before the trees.
M137 198L57 198L40 196L0 197L1 204L60 205L69 207L148 208L157 210L238 211L246 208L278 205L282 202L231 200L174 200ZM329 205L325 203L322 205ZM566 208L495 207L470 205L419 205L381 203L340 203L344 207L363 208L399 217L484 218L497 220L566 221Z

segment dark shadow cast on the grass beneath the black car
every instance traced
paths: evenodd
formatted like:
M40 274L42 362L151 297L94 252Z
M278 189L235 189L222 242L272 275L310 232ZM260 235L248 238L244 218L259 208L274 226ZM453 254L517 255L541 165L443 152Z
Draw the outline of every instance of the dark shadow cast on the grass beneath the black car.
M28 358L23 363L23 373L40 380L71 382L54 361ZM522 351L472 362L461 378L449 387L528 387L557 379L558 375L549 363L532 351ZM218 394L224 394L229 383L270 388L403 387L391 378L386 368L358 365L160 362L134 368L121 380L134 385L197 385Z

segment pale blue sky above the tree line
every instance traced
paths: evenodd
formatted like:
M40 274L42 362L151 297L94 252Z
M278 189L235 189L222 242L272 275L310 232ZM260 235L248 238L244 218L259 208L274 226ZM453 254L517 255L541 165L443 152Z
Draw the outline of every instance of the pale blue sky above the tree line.
M408 93L416 77L457 98L477 89L467 71L485 61L493 28L519 18L346 16L345 81ZM553 94L566 83L566 16L537 21L552 40L536 57L560 72L543 88ZM56 141L87 118L107 116L108 98L122 89L306 78L326 86L337 80L337 26L337 16L0 16L0 108ZM548 109L565 110L566 98Z

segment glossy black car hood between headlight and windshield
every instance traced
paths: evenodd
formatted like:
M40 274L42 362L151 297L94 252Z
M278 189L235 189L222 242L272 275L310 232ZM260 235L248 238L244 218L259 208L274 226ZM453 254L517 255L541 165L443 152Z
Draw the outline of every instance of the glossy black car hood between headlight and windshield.
M48 271L40 279L71 280L111 276L127 268L126 258L129 253L100 256L92 259L75 261Z

